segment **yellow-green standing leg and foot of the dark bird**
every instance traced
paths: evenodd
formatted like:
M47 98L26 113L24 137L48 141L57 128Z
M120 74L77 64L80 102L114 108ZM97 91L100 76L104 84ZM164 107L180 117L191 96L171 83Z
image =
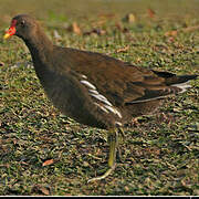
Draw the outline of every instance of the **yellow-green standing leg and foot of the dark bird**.
M116 158L116 153L117 153L117 147L118 147L117 129L111 129L108 132L108 143L109 143L108 170L102 176L90 179L87 182L104 179L115 169L115 166L116 166L115 158Z

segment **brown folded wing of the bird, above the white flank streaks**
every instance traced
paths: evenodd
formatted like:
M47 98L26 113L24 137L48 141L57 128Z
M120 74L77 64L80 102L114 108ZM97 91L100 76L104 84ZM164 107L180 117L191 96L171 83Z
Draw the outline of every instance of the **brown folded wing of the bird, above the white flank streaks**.
M107 55L67 49L63 56L67 56L65 65L73 73L85 75L116 106L150 101L176 92L166 85L164 75Z

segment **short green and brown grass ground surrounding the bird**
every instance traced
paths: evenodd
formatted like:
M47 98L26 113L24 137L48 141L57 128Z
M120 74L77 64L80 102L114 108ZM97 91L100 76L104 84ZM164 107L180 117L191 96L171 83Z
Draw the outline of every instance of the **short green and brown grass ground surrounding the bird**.
M156 115L126 126L115 172L87 184L106 169L106 133L60 115L33 67L27 66L31 56L23 42L2 40L11 18L27 12L41 20L59 45L198 74L198 1L13 2L2 0L0 8L0 195L199 195L198 80L187 93L168 98ZM133 22L124 20L129 12Z

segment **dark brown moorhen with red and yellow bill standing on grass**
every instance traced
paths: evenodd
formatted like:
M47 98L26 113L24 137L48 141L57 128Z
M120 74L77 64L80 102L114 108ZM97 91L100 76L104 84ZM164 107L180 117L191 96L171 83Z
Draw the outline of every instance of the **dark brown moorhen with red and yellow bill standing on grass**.
M17 35L28 46L35 73L52 104L80 124L106 129L107 170L116 167L118 135L133 118L154 113L165 98L186 92L198 74L176 75L136 66L108 55L54 45L35 18L18 14L4 39Z

